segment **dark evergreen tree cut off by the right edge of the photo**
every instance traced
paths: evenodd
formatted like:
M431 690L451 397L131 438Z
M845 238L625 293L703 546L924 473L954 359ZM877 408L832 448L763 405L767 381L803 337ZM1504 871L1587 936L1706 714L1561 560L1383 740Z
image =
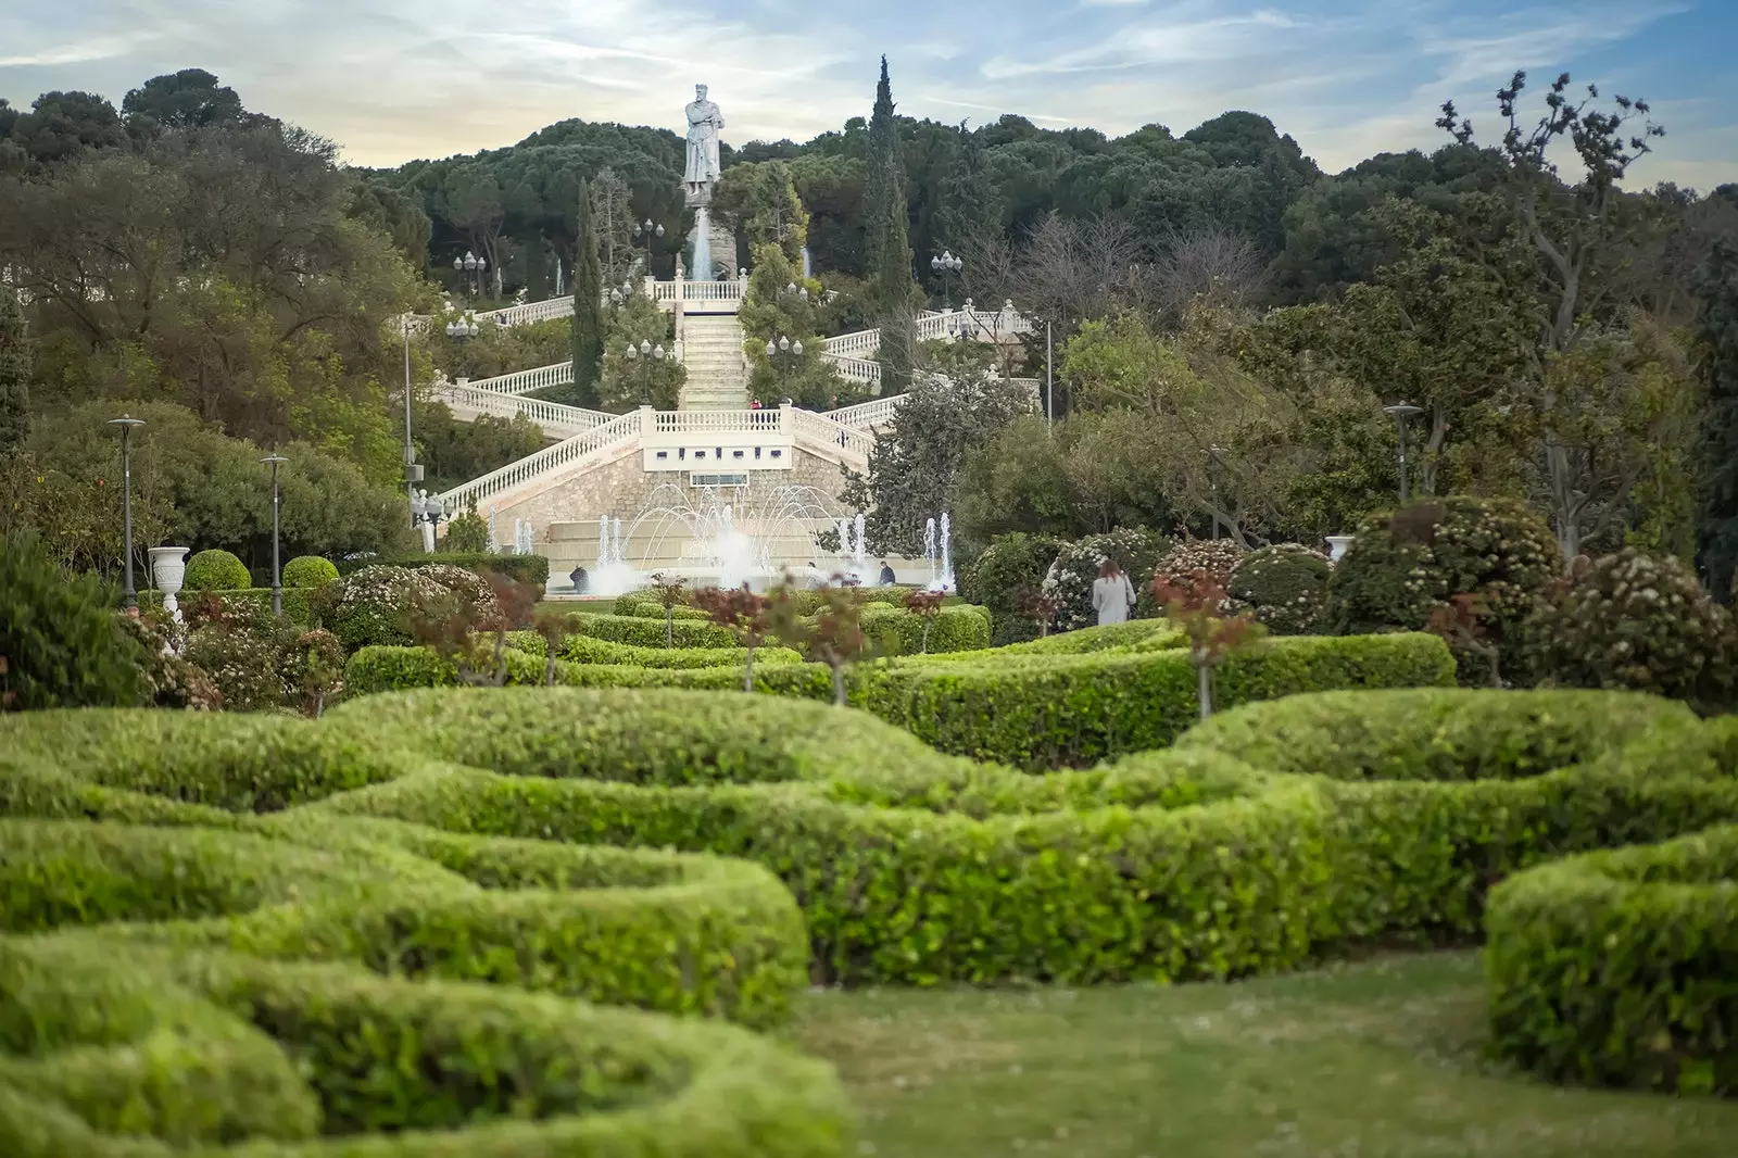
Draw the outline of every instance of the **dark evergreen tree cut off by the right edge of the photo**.
M1733 598L1738 572L1738 238L1714 245L1696 275L1708 410L1696 471L1702 569L1715 598Z

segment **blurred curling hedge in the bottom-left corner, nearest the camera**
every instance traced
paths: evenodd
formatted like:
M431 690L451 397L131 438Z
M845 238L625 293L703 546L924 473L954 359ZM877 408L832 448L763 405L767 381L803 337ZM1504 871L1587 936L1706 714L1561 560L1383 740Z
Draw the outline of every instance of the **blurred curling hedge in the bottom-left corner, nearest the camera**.
M9 1158L845 1153L831 1069L725 1022L99 934L0 939L0 977Z

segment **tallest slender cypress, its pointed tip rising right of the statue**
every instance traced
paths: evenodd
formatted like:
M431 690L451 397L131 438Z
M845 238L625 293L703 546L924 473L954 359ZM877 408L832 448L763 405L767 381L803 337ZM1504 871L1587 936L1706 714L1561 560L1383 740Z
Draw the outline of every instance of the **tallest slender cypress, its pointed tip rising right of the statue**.
M869 163L864 174L866 257L869 301L881 327L881 393L911 388L912 353L918 344L912 309L916 283L911 278L907 235L905 163L900 156L899 123L893 120L893 87L881 57L881 82L869 118Z

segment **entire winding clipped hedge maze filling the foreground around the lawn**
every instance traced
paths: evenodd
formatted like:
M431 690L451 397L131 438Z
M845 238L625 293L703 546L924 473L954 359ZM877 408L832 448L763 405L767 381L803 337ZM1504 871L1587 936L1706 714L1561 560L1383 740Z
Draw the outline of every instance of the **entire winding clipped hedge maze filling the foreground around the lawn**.
M36 713L0 753L9 1156L843 1155L831 1069L756 1033L812 981L1481 928L1509 1057L1738 1087L1738 722L1641 695L1297 695L1043 775L680 690Z

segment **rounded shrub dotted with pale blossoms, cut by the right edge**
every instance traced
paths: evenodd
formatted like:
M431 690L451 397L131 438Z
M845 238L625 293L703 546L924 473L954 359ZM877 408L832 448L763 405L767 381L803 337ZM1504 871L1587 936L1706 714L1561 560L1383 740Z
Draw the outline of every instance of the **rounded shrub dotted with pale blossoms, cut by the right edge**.
M1634 689L1703 708L1733 702L1738 631L1675 558L1608 555L1528 624L1533 673L1564 687Z

